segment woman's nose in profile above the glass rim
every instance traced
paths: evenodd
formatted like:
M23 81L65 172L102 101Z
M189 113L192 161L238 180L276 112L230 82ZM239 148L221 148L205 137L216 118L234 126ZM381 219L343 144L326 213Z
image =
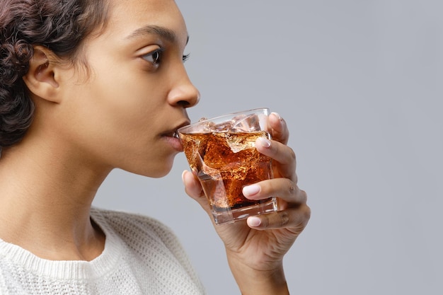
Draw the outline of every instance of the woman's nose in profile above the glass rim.
M190 81L188 74L184 72L176 79L175 86L168 93L168 101L171 105L180 105L183 108L191 108L200 100L200 92Z

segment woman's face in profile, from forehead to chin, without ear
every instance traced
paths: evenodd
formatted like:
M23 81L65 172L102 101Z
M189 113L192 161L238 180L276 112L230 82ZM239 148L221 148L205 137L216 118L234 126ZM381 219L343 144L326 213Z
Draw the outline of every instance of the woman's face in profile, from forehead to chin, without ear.
M183 66L188 32L172 0L111 0L103 33L85 40L88 71L63 72L60 134L91 165L160 177L180 151L173 132L199 93Z

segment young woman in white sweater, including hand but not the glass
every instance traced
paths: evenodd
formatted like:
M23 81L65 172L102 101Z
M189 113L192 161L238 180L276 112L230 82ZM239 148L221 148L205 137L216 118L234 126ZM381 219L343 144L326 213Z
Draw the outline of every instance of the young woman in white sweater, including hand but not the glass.
M166 226L91 209L113 168L158 178L182 150L199 100L187 42L173 0L1 0L0 294L204 294ZM269 120L257 149L276 178L243 193L281 211L215 226L242 294L289 294L282 259L310 214L284 120Z

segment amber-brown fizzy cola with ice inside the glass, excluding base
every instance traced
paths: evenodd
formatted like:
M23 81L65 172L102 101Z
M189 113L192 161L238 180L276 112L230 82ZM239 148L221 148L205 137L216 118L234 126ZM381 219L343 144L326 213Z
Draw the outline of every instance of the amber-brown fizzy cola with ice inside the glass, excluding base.
M236 128L244 125L243 122ZM219 130L219 127L211 129ZM246 185L272 178L271 159L255 149L256 139L270 136L264 131L232 132L233 127L226 130L225 125L224 132L180 134L190 167L197 170L205 195L215 211L269 201L246 199L242 190Z

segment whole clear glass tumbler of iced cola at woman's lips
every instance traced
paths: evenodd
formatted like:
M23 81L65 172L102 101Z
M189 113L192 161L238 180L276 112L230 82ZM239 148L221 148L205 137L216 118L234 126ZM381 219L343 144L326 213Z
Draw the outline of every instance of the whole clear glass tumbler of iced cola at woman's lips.
M259 137L270 139L263 123L267 114L260 117L263 110L256 112L204 120L178 132L217 224L276 210L275 197L255 201L242 193L244 186L272 178L272 159L255 148Z

